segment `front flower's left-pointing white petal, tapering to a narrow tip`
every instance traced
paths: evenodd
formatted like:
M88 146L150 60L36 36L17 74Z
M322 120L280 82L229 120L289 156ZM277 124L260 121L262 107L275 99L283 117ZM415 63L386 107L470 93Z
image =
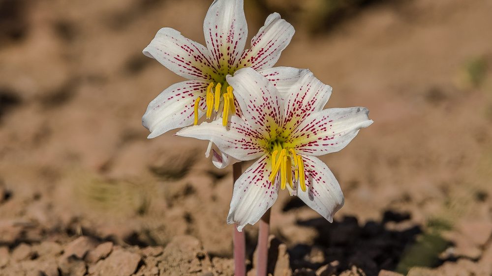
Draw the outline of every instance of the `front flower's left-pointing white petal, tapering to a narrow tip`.
M261 134L238 116L231 116L229 129L222 126L222 120L215 120L184 128L176 135L212 141L220 151L242 161L259 158L266 151Z

